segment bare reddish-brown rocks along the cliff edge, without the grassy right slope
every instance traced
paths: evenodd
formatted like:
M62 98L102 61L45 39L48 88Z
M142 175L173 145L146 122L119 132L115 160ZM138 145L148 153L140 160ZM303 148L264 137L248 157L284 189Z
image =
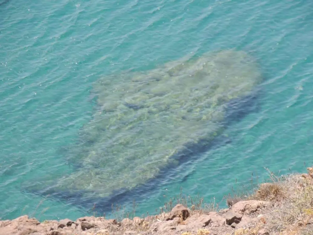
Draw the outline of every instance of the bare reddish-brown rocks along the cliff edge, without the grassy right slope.
M34 218L22 216L12 221L2 221L0 234L6 235L141 235L158 234L174 235L190 232L191 234L231 234L234 227L244 227L252 222L249 213L256 212L261 201L237 202L231 209L221 212L190 211L178 204L171 212L162 216L125 218L121 222L104 217L82 217L76 221L63 219L60 221L44 221L40 223ZM226 213L225 213L226 212Z

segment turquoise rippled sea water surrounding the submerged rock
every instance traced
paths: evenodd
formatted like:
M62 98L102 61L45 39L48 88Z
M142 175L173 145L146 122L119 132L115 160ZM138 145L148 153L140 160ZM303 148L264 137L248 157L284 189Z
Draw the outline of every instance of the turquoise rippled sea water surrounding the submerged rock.
M25 185L45 188L45 177L75 170L68 147L96 112L94 82L190 53L236 48L256 58L264 76L258 109L228 126L225 144L149 190L112 200L131 207L136 199L137 215L151 214L181 187L220 201L252 172L266 178L264 167L304 171L313 164L312 10L304 0L0 2L0 218L92 215L88 198Z

